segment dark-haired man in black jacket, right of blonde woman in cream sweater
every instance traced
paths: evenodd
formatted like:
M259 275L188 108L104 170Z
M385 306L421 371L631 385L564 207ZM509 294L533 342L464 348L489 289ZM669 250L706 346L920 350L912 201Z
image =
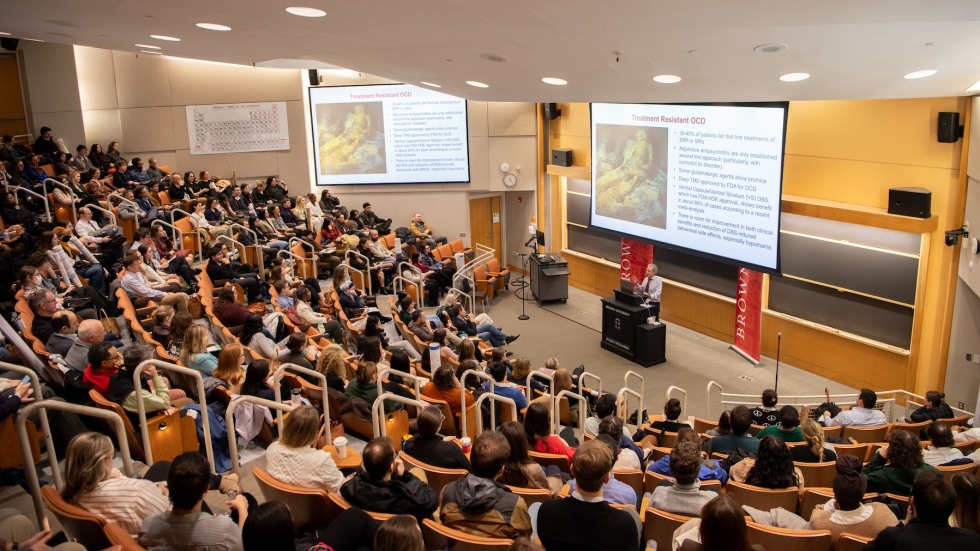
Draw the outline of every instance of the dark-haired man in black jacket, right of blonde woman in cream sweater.
M363 468L340 488L348 503L367 511L432 518L439 495L395 457L391 442L375 438L364 446Z

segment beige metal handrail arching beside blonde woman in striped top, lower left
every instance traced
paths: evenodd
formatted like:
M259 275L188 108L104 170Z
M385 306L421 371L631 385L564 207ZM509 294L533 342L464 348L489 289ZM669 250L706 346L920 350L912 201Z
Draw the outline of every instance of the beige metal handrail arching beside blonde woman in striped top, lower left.
M9 364L5 365L10 367ZM34 457L31 454L30 441L27 437L27 418L31 413L38 409L54 409L57 411L74 413L76 415L88 415L91 417L99 417L104 419L106 422L111 423L113 428L116 429L116 440L119 442L119 453L122 455L123 472L126 473L126 476L131 476L133 474L133 462L129 456L129 442L126 440L126 429L123 425L122 417L120 417L116 412L98 409L91 406L81 406L70 402L62 402L60 400L41 400L28 404L17 415L17 438L20 440L20 447L24 452L24 470L27 472L27 482L31 490L31 499L34 501L34 513L37 515L37 521L40 528L42 530L47 530L50 528L50 524L48 523L47 511L44 506L44 498L41 497L41 482L37 476L37 465L34 464ZM42 411L40 415L42 419L47 419L48 417L46 411ZM58 466L57 457L54 456L53 453L54 446L51 446L48 448L48 459L51 464L51 473L54 475L55 486L60 490L63 487L62 483L60 482L61 469Z

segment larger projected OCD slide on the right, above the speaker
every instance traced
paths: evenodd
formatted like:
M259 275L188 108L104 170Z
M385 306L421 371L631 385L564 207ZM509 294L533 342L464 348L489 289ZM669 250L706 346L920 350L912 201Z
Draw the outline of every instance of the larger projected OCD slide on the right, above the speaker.
M778 270L787 104L592 104L592 226Z

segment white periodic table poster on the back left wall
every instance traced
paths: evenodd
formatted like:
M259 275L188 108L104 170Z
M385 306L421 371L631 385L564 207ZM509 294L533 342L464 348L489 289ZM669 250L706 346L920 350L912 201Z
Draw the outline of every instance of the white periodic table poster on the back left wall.
M286 102L188 105L191 155L289 149Z

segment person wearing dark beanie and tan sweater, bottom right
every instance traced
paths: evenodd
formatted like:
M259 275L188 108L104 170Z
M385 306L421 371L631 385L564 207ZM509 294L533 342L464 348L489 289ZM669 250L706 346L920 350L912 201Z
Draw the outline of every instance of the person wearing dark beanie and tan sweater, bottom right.
M885 528L898 524L898 518L884 503L861 503L868 479L861 473L862 462L852 455L837 457L834 499L813 509L810 527L830 530L834 545L843 532L874 538Z

